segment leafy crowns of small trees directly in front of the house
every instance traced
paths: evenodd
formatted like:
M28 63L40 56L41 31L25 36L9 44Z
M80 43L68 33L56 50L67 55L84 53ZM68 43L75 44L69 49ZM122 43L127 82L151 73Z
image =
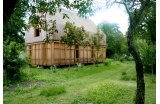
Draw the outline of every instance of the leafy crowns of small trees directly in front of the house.
M60 42L71 46L73 44L88 46L93 45L95 51L93 52L93 57L95 58L96 63L99 62L99 59L103 57L103 53L100 53L100 48L104 44L103 34L100 33L100 30L97 33L89 36L89 33L85 31L83 27L77 27L74 23L66 22L63 28L65 35L61 36Z

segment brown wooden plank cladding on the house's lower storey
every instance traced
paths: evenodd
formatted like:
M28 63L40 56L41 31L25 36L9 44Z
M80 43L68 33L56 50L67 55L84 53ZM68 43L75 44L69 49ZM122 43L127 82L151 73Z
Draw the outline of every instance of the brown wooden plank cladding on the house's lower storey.
M30 44L26 47L26 54L31 57L32 64L53 66L76 63L94 63L105 61L106 47L97 50L93 46L67 46L59 42Z

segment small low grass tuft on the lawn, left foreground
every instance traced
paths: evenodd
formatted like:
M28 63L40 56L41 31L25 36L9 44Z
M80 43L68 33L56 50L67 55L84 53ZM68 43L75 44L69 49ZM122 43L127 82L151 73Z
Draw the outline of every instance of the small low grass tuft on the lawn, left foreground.
M64 86L53 86L53 87L42 90L40 92L40 95L49 97L49 96L56 96L65 92L66 92L66 89Z

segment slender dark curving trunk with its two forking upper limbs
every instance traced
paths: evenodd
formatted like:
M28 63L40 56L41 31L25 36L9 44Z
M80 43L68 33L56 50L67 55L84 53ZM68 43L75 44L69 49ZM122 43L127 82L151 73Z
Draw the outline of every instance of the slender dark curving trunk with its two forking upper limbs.
M144 104L145 102L145 83L144 83L144 74L143 74L143 64L140 58L140 54L133 43L134 32L136 31L136 27L140 21L140 18L143 14L145 8L149 5L149 0L143 1L141 0L141 7L137 11L135 10L133 13L130 12L127 4L125 2L116 2L119 4L123 4L129 16L129 28L127 33L127 42L128 42L128 50L134 58L136 64L136 74L137 74L137 90L136 90L136 104Z

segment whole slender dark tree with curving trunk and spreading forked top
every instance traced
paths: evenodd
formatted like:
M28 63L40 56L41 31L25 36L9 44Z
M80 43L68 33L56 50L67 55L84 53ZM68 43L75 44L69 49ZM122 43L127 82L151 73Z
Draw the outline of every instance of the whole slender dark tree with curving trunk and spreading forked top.
M133 56L136 64L137 73L137 91L136 91L136 104L144 104L145 101L145 83L143 75L143 64L136 47L134 46L133 36L136 27L143 17L144 11L155 3L154 0L114 0L113 3L124 5L126 12L129 16L129 28L127 32L128 50Z

